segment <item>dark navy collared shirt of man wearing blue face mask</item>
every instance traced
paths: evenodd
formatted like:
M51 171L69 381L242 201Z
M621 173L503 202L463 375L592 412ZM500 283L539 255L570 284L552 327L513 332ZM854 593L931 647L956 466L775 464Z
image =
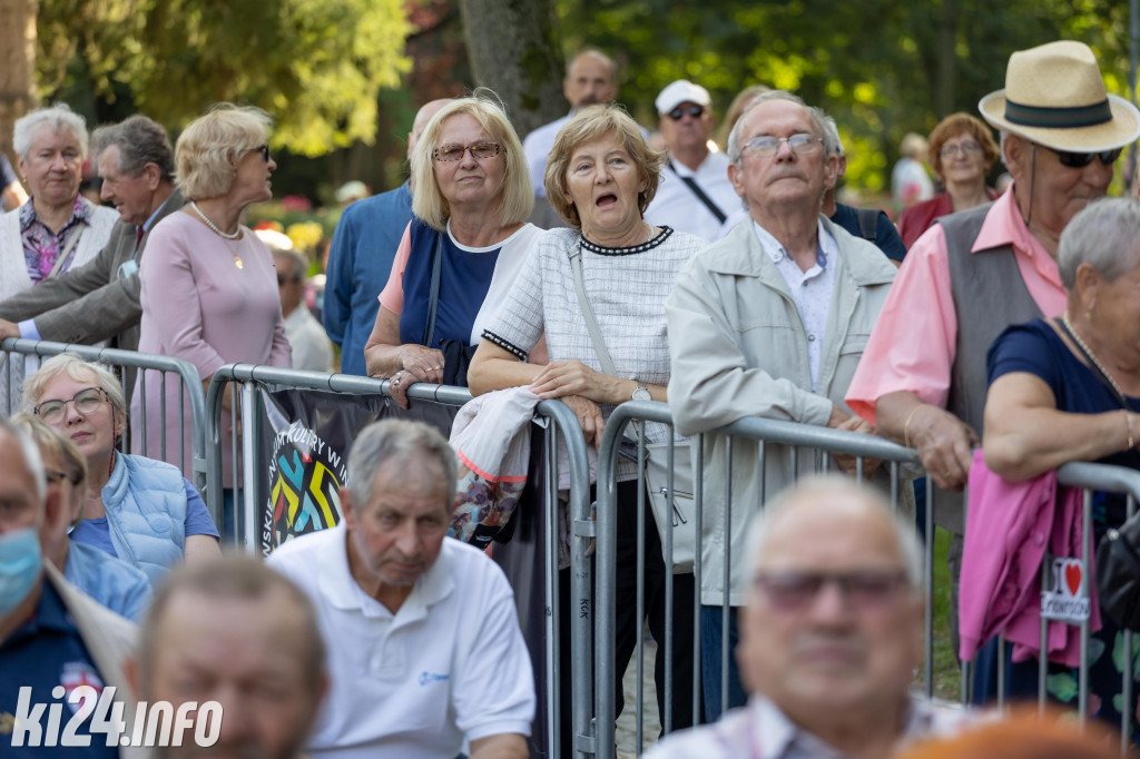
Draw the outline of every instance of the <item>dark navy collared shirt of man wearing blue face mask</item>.
M30 704L66 704L72 691L81 685L90 685L103 692L104 679L91 659L75 620L67 613L63 599L51 583L41 580L40 602L31 619L16 628L0 643L0 750L5 757L117 757L119 748L107 748L105 736L91 735L90 718L79 725L76 734L90 735L87 748L55 746L43 744L48 731L48 709L40 715L40 729L32 728L25 737L41 736L41 745L31 748L24 741L23 748L11 745L14 719L18 713L19 688L32 688ZM65 695L54 697L52 691L63 687ZM78 705L64 705L59 729L72 719Z

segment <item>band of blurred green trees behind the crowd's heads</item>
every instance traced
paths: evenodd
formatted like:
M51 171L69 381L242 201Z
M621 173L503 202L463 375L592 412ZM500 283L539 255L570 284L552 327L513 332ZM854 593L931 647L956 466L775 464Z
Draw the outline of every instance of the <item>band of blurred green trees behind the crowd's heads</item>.
M35 99L95 123L140 111L176 134L247 103L277 120L275 187L327 202L349 179L402 181L427 99L491 87L523 134L564 113L565 56L588 44L619 60L620 99L651 128L678 77L718 114L748 84L798 91L836 117L848 181L873 193L905 132L976 113L1011 51L1060 38L1127 95L1122 0L0 0L0 141Z

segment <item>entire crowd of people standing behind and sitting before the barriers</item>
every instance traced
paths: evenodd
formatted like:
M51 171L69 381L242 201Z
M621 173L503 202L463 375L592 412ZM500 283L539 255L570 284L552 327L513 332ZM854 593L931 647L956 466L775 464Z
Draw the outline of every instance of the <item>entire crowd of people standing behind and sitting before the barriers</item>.
M526 140L489 90L424 105L408 181L337 226L319 321L306 259L244 221L272 196L268 114L220 104L172 147L142 115L89 140L66 106L34 111L15 137L30 197L2 188L16 207L0 217L0 337L185 359L206 385L238 361L327 368L331 338L343 372L388 379L405 408L416 383L560 399L595 449L629 400L669 405L675 431L649 423L650 443L755 416L885 436L936 485L950 634L963 660L982 648L975 701L993 696L1002 662L1012 694L1035 694L1042 656L1052 699L1073 701L1076 654L1020 639L1001 651L995 617L1034 603L1044 548L1031 504L1052 497L1056 468L1140 468L1140 204L1105 198L1140 109L1107 93L1082 43L1018 51L980 119L907 137L896 229L838 201L839 130L797 95L748 88L718 145L700 84L661 90L651 134L614 103L617 81L608 56L580 52L569 114ZM89 144L107 205L79 194ZM987 186L999 158L1003 193ZM13 354L0 372L19 411L0 418L0 744L36 754L23 741L52 728L30 704L91 685L117 689L125 728L122 749L93 740L91 756L140 750L135 705L154 701L219 703L215 750L234 756L545 756L530 740L542 652L503 570L447 537L457 464L439 431L366 427L347 451L341 523L262 563L219 548L234 530L231 435L223 524L186 456L156 460L190 449L188 426L162 423L189 403L177 383L67 353ZM673 642L656 679L674 733L651 756L982 756L968 748L988 734L975 712L911 692L929 603L913 491L891 513L853 479L889 487L886 467L836 455L837 473L804 479L797 454L710 438L699 587L666 564L653 514L640 521L636 465L617 466L618 669L643 625ZM1018 508L994 500L1011 491ZM1094 537L1126 516L1098 499ZM1011 536L1007 556L994 541ZM1012 579L991 587L987 572ZM1015 581L1021 606L1008 609ZM557 582L570 587L569 568ZM1135 721L1123 631L1098 621L1089 716ZM552 743L568 757L563 643ZM1067 756L1100 756L1072 741Z

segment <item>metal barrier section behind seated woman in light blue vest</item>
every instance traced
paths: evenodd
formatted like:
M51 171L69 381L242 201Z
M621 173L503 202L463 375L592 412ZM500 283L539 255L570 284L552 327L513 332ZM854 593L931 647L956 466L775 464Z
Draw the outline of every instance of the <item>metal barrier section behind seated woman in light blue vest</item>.
M160 372L161 378L158 379L157 387L160 393L160 407L157 418L152 417L148 414L144 414L142 418L139 419L139 432L142 438L137 446L133 446L137 452L148 456L150 458L157 458L163 462L168 462L178 466L179 468L187 471L187 463L190 464L189 471L193 476L189 478L194 487L198 492L204 493L206 487L206 458L205 458L205 430L206 430L206 415L205 415L205 394L202 389L202 378L198 376L198 370L193 364L184 359L171 358L169 356L154 356L149 353L139 353L137 351L123 351L114 348L99 348L96 345L76 345L70 343L54 343L49 341L36 341L36 340L21 340L8 337L0 342L0 360L3 365L0 367L0 410L6 415L14 414L21 409L21 385L24 382L25 374L32 374L35 369L32 366L32 360L35 361L35 367L39 366L39 359L44 357L56 356L58 353L75 353L80 358L87 361L101 361L111 366L116 370L120 381L123 382L123 394L127 399L127 408L124 411L130 416L130 403L131 394L129 389L128 377L133 376L137 370L153 370ZM25 368L25 361L27 361ZM186 419L184 409L181 405L177 408L166 408L166 383L177 382L180 391L189 398L190 405L190 418ZM153 386L154 383L149 383ZM147 408L147 391L145 384L139 384L139 394L141 407ZM177 421L174 419L177 415ZM179 430L179 444L178 450L166 450L166 441L162 440L158 450L153 450L147 444L147 427L153 427L158 425L165 429L170 424L177 424ZM190 425L190 450L187 451L185 448L185 430L186 425ZM128 435L123 435L122 441L123 451L128 451ZM187 459L187 456L192 458Z

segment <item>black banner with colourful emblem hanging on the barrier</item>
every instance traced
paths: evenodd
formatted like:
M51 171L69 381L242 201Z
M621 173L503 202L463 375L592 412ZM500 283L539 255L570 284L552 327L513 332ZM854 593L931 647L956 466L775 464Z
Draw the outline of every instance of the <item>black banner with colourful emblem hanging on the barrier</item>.
M456 407L417 402L404 409L380 395L261 389L261 460L266 462L258 531L261 552L341 521L348 455L365 426L389 416L451 431Z

